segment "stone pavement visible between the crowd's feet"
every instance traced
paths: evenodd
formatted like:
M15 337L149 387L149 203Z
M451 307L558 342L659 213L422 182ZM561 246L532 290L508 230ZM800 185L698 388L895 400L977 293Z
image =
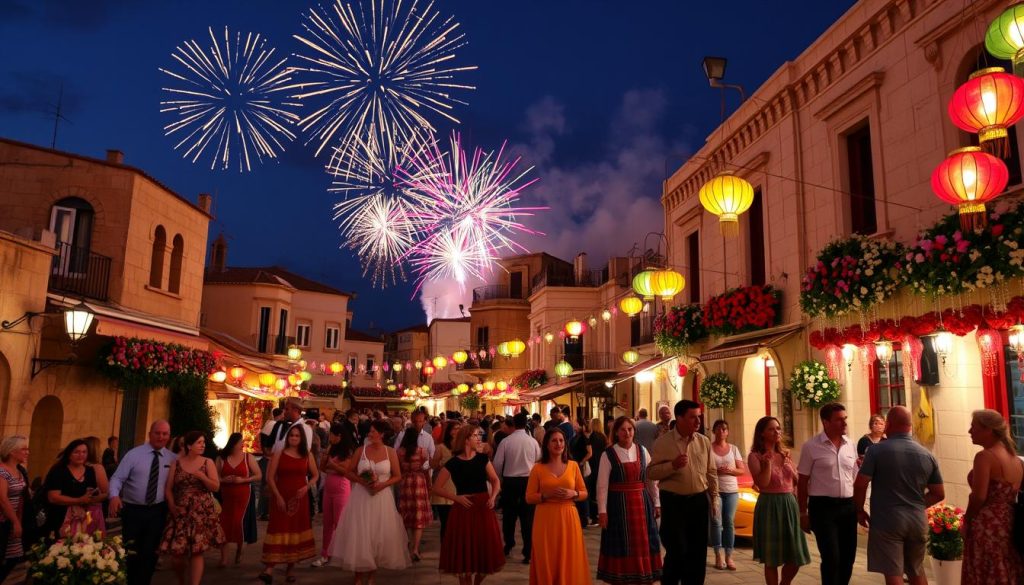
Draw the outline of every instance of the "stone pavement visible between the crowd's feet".
M262 537L263 531L266 529L266 523L260 523L260 536ZM321 527L319 519L315 521L314 532L316 534L317 544L319 543ZM584 531L584 538L587 541L587 551L590 555L591 569L596 571L597 567L597 556L598 548L600 544L601 531L600 529L594 527ZM437 559L438 559L438 548L440 546L438 541L438 527L434 523L430 528L426 529L424 532L424 542L421 546L421 551L423 554L423 560L414 563L407 571L381 571L377 575L378 585L433 585L433 584L454 584L456 583L455 577L440 575L437 572ZM854 567L854 577L851 585L866 585L868 583L878 584L883 583L883 579L879 575L868 574L865 568L865 550L863 548L865 544L865 537L861 535L861 548L857 553L857 563ZM737 571L717 571L713 569L710 565L708 568L708 585L733 585L740 583L764 583L763 572L760 565L754 562L751 557L751 544L749 541L743 541L740 539L737 544L737 550L735 554ZM808 545L811 549L812 562L811 565L803 568L800 574L797 576L795 581L798 585L810 585L813 583L820 583L818 577L818 556L817 550L813 542L813 537L809 539ZM244 549L242 563L238 567L229 566L226 569L218 569L216 563L218 562L218 556L216 552L211 552L207 554L207 571L203 579L204 583L213 583L216 585L233 585L233 584L245 584L245 585L258 585L259 582L256 580L256 575L262 569L259 562L260 551L262 546L260 544L249 545ZM233 545L230 549L230 554L233 555ZM709 562L714 560L714 554L709 550L708 554ZM515 548L512 551L511 557L509 557L505 569L498 575L489 577L485 583L496 583L496 584L509 584L509 585L524 585L529 583L529 567L523 565L522 556L520 554L519 548ZM174 573L170 571L169 559L164 559L161 562L162 569L157 573L154 579L155 585L176 585L177 581L175 579ZM927 566L927 562L926 562ZM352 583L353 578L351 573L345 573L340 569L336 568L323 568L313 569L309 567L309 562L303 562L302 565L296 567L295 576L297 578L297 585L306 585L310 583L325 583L331 585L347 585ZM592 575L593 578L593 575ZM279 568L274 574L274 583L284 584L284 568ZM585 583L585 581L581 581Z

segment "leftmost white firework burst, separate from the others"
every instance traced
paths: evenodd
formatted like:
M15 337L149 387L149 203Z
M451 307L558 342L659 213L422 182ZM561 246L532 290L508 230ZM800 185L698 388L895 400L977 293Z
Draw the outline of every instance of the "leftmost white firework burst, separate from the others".
M232 36L226 27L219 40L212 28L209 33L207 50L185 41L171 54L180 69L160 68L174 80L162 88L167 98L160 111L177 118L164 132L180 136L174 149L193 163L209 157L211 169L226 170L233 161L239 171L249 171L295 138L291 127L299 120L299 103L281 99L292 87L291 76L264 37Z

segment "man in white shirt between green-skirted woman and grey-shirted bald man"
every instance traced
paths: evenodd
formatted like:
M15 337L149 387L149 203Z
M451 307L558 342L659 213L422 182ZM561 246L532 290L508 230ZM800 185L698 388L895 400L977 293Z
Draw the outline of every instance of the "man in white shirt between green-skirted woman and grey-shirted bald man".
M846 435L846 407L828 403L820 416L824 430L800 453L800 528L817 540L821 584L849 585L857 556L857 448Z

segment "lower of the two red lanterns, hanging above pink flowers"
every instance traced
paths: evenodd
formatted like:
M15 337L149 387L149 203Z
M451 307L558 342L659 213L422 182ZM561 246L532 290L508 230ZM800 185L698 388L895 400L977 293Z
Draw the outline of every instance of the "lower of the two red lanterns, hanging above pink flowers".
M1010 171L978 147L957 149L932 173L932 191L959 210L961 227L980 232L986 225L985 203L1007 189Z

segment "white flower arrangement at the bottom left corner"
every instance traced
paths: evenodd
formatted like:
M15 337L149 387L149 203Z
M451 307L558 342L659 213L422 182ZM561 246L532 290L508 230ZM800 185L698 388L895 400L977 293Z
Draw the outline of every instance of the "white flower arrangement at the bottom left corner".
M29 576L33 583L124 583L126 559L120 536L102 538L98 532L80 532L49 546L40 543L32 547Z

